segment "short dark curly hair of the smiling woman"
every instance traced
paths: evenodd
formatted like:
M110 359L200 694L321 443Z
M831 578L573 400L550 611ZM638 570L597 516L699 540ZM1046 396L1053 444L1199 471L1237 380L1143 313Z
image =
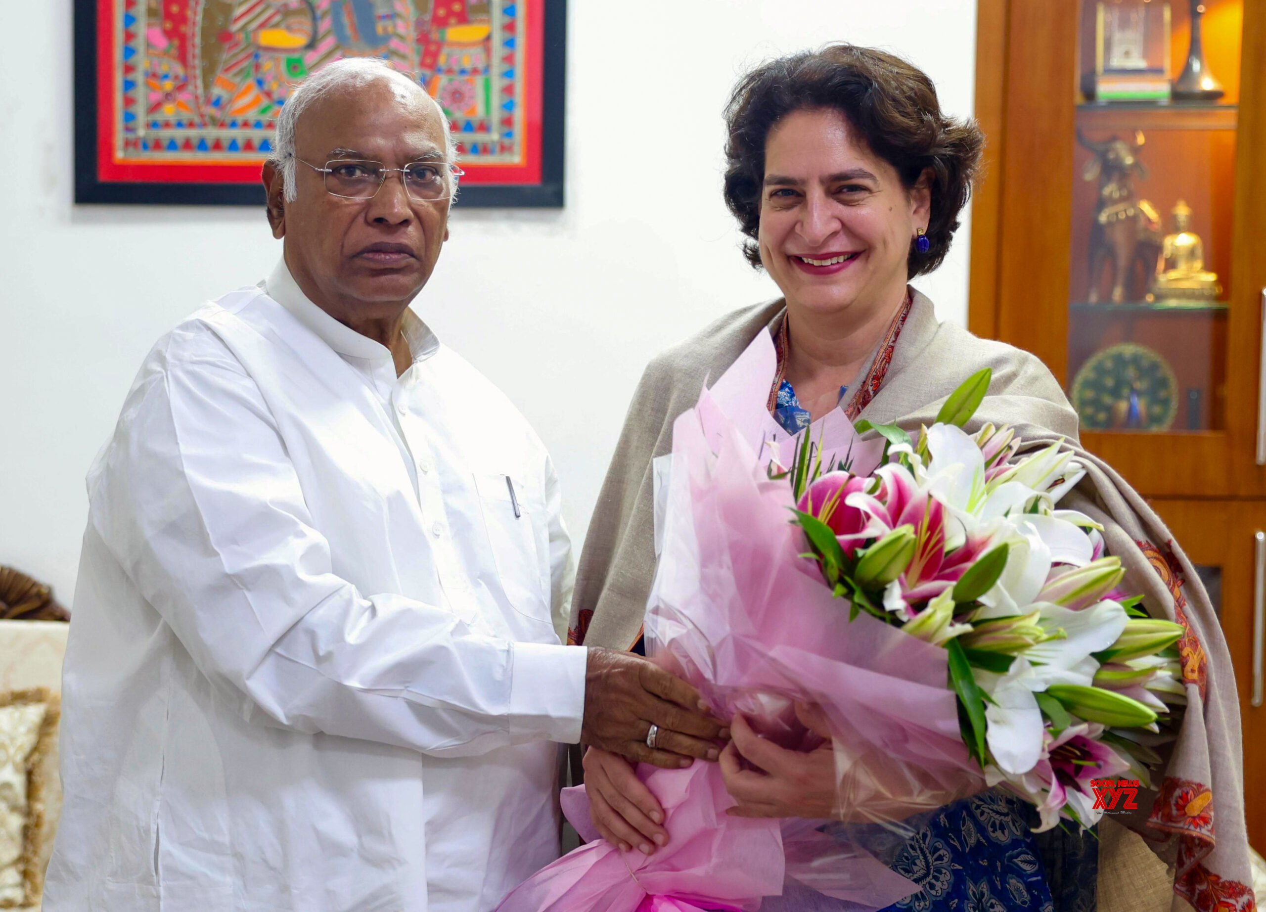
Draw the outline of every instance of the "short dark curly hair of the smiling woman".
M747 73L725 105L725 205L749 239L743 253L760 269L757 232L765 142L770 130L796 110L833 109L865 138L870 149L896 168L906 190L931 168L931 248L914 243L910 276L931 272L950 251L958 213L971 195L985 138L974 120L941 113L937 90L922 70L875 48L828 44L758 66Z

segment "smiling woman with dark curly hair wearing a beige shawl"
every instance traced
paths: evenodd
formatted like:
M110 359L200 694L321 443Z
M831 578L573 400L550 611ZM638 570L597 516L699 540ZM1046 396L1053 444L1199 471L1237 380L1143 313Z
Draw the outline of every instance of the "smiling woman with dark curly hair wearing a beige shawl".
M656 574L656 495L665 489L657 457L674 448L674 422L700 402L699 390L734 365L761 333L772 334L776 352L776 369L766 374L768 410L790 433L810 424L817 433L824 426L815 422L839 408L872 428L895 424L914 434L941 421L941 407L963 379L987 371L987 391L965 429L1009 427L1029 447L1071 452L1085 471L1063 503L1093 516L1103 528L1113 556L1127 569L1122 590L1143 594L1150 617L1176 621L1191 637L1184 655L1200 661L1182 675L1186 709L1163 721L1162 740L1174 740L1172 754L1163 779L1153 776L1158 790L1146 803L1141 798L1139 807L1152 808L1146 826L1160 833L1184 833L1188 855L1185 861L1179 855L1179 870L1185 873L1174 882L1177 896L1194 899L1201 909L1212 908L1219 897L1229 903L1227 908L1248 897L1238 697L1218 618L1193 579L1190 562L1143 499L1079 446L1077 415L1037 357L939 323L932 303L908 285L912 276L936 269L950 247L977 168L980 130L974 123L944 117L936 87L915 67L881 51L847 44L757 67L734 89L725 118L725 203L746 236L747 260L770 274L782 296L723 317L646 369L599 495L603 509L585 538L570 640L620 649L641 642ZM766 376L752 380L761 394ZM946 494L931 489L929 497L944 500ZM1163 559L1151 542L1165 543ZM667 547L666 538L666 554ZM729 554L737 561L737 555L747 552ZM1050 574L1048 581L1076 566L1062 557L1043 560L1046 569L1039 570ZM1069 630L1060 633L1072 636ZM1200 670L1205 661L1208 674ZM1176 675L1177 659L1169 673ZM990 687L990 699L1004 704L1004 688ZM1039 689L1032 688L1025 697L1036 699ZM798 709L804 726L813 728L814 708ZM1080 711L1086 716L1079 717L1082 722L1093 718L1089 709ZM839 813L829 742L796 752L761 738L742 716L725 721L733 741L720 754L720 773L737 802L729 813L814 821ZM1053 725L1046 732L1050 744L1038 766L1055 770L1051 782L1061 789L1080 788L1085 770L1079 771L1076 764L1091 760L1074 759L1070 765L1058 733ZM647 855L667 846L671 861L671 822L629 765L591 749L584 768L598 831ZM1209 787L1210 782L1215 784ZM891 908L1096 907L1098 836L1053 825L1034 833L1039 823L1034 808L1017 803L1008 788L1025 798L1032 794L1012 780L906 821L913 836L899 841L885 861L918 889ZM1196 793L1214 798L1181 798ZM1171 801L1172 795L1180 799ZM1206 845L1198 842L1201 837L1172 820L1181 816L1184 804L1199 803L1203 813L1213 801L1222 808L1215 846L1212 836ZM1166 809L1175 807L1179 812ZM1106 833L1114 825L1103 821L1100 826ZM1129 826L1142 832L1142 816ZM1141 840L1129 846L1105 840L1104 845L1113 844L1114 854L1105 850L1103 856L1104 896L1129 896L1125 907L1131 909L1156 908L1139 890L1148 883L1172 880L1162 861ZM1175 851L1163 849L1163 840L1155 845L1162 846L1157 852ZM1210 854L1204 856L1204 851ZM1172 855L1162 858L1169 861ZM1169 898L1162 897L1160 906L1169 908ZM785 892L767 898L761 908L823 912L842 907L823 897L806 899ZM1106 904L1099 908L1114 912Z

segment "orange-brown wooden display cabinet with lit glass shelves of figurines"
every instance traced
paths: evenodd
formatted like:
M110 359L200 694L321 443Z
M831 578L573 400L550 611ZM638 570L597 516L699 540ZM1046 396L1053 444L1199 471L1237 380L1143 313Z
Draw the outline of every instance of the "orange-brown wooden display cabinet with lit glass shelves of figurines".
M1266 636L1261 609L1255 624L1266 598L1255 551L1266 531L1266 0L1201 4L1205 62L1224 90L1201 100L1105 101L1110 80L1095 72L1119 54L1096 35L1100 6L1118 22L1169 8L1160 47L1177 77L1188 0L980 0L987 147L970 327L1039 356L1077 407L1086 448L1155 504L1194 562L1218 567L1261 849L1266 707L1251 690ZM1190 234L1162 257L1180 200L1199 271ZM1119 281L1114 253L1128 263Z

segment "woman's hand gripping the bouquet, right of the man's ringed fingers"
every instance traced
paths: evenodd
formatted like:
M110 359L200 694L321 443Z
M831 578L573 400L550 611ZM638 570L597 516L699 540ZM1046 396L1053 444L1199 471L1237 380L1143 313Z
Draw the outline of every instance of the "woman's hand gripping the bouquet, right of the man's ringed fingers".
M796 703L796 717L825 742L806 754L790 751L752 731L734 716L730 742L720 755L725 789L738 801L736 817L837 817L836 751L825 718L817 707ZM743 769L742 761L758 769Z

